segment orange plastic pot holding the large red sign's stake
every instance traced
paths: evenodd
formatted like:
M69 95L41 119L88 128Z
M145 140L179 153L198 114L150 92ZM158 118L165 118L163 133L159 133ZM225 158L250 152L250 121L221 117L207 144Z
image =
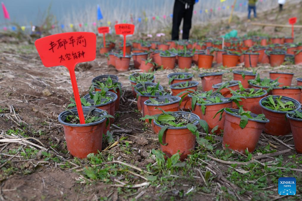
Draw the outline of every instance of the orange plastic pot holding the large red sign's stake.
M71 111L77 115L76 108ZM83 107L84 115L87 115L89 107ZM101 109L95 109L92 114L98 116L107 115L107 113ZM67 150L71 155L78 158L86 158L89 153L98 153L102 150L102 139L104 124L106 118L89 123L89 124L68 124L64 122L67 115L71 115L70 111L63 111L59 114L58 120L63 124L64 134L66 139Z

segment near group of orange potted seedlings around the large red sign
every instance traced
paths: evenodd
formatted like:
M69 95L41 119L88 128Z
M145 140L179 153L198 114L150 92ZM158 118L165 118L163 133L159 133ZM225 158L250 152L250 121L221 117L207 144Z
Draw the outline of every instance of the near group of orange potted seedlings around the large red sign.
M211 76L219 76L221 79L202 81L203 87L206 87L207 82L210 81L213 88L198 92L198 82L191 81L192 74L170 74L168 78L171 84L171 96L164 91L159 83L154 83L155 77L153 74L130 75L129 80L133 85L133 95L137 97L137 107L142 110L144 120L152 119L153 129L155 133L159 133L162 150L168 156L181 150L181 159L184 159L190 153L190 150L194 149L195 140L193 138L199 139L198 142L203 141L199 138L197 124L200 124L206 133L209 129L211 133L216 134L224 130L223 144L228 144L230 145L229 148L242 152L246 148L250 152L255 149L262 129L272 135L284 135L292 130L294 139L299 139L301 133L299 122L302 121L299 120L300 113L298 110L301 107L299 101L285 96L267 96L268 93L262 86L245 89L238 80L222 83L222 73L205 73L199 77L203 80ZM244 77L243 73L241 73L241 77ZM219 83L212 83L213 80L219 81ZM254 80L257 80L257 77ZM265 81L265 79L262 81ZM271 80L265 82L271 83ZM59 121L64 126L67 148L72 155L84 158L89 153L101 151L102 135L110 131L110 124L114 122L114 113L119 108L121 86L118 77L114 75L98 76L92 80L91 91L81 99L86 124L79 124L77 110L73 108L75 103L72 99L72 103L68 105L71 109L59 115ZM248 101L248 99L252 98L261 98L258 101L262 112L259 111L259 107L256 110L255 105L250 105L251 101ZM180 112L180 109L190 109L192 112ZM245 110L253 110L253 112ZM223 111L225 113L222 113ZM287 113L288 111L292 113ZM261 113L265 116L259 115ZM276 114L279 117L276 117ZM285 120L285 114L290 119L290 124ZM231 117L228 115L233 116L232 118L236 117L235 120L230 120ZM245 123L242 123L243 121ZM277 125L274 125L276 123ZM254 141L247 140L247 142L253 142L252 145L244 144L246 142L244 140L227 139L228 136L234 137L234 133L237 132L233 130L235 129L233 124L246 130L255 128L252 124L261 125L260 130L257 130L256 137L252 137ZM182 135L175 132L176 130L186 133ZM240 132L237 132L238 135ZM251 133L250 130L247 133ZM179 137L186 139L182 145L177 140L180 139ZM251 138L251 136L248 137ZM257 138L258 140L256 140ZM295 147L299 152L302 145L296 141Z

